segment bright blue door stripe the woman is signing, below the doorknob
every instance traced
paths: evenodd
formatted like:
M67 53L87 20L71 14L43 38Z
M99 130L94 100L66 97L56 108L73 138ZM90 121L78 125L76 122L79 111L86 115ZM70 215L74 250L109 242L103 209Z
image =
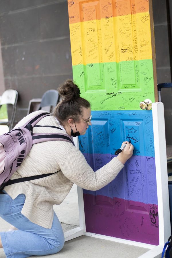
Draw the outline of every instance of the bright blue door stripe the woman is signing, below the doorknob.
M79 136L83 153L114 156L121 143L130 140L134 155L155 157L152 111L92 111L92 126Z

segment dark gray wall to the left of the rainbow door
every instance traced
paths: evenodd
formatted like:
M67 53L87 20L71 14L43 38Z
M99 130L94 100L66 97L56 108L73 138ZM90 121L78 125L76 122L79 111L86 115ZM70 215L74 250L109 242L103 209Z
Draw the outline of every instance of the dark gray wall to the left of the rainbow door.
M5 89L19 93L16 122L29 100L72 76L67 1L0 0Z

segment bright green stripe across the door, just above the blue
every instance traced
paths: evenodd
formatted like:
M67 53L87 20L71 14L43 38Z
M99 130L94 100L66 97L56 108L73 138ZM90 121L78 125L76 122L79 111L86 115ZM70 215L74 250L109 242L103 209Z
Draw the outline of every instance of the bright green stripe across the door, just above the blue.
M92 110L140 110L144 99L155 102L152 59L76 65L73 78Z

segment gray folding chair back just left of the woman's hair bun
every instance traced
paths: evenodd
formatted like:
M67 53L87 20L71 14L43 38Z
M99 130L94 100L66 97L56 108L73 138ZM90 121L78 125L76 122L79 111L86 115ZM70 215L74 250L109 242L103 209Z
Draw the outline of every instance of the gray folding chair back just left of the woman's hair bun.
M57 105L59 101L59 93L57 90L48 90L42 96L39 110L42 110L43 107L50 107L50 112L52 108Z

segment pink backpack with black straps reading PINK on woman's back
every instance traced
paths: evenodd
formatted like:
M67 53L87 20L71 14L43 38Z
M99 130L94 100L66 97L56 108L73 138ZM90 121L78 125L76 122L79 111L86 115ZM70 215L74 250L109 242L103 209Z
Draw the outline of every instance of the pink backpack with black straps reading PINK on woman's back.
M59 133L47 133L47 134L33 134L33 127L43 117L50 116L50 113L41 113L34 116L23 126L13 129L10 132L0 136L0 191L6 186L14 183L30 181L41 177L52 175L53 173L37 175L31 177L23 177L19 179L10 180L13 173L19 168L22 161L27 157L30 152L32 145L38 142L59 140L71 142L74 145L73 140L66 134ZM45 126L54 127L62 130L56 126Z

